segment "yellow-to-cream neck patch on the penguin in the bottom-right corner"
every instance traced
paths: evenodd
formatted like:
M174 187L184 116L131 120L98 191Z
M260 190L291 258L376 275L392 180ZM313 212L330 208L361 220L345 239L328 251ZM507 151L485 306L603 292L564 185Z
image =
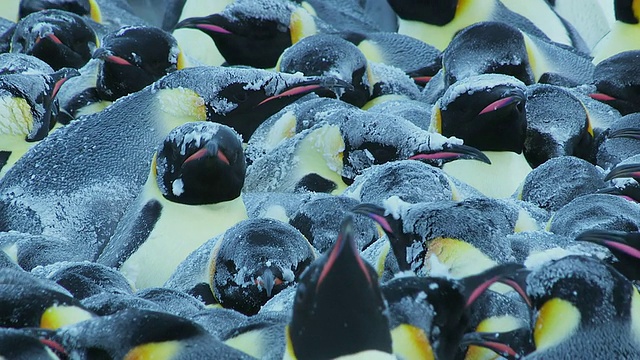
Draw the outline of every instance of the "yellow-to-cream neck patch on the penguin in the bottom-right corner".
M553 298L540 308L533 328L536 350L558 345L569 338L580 325L580 310L572 303Z

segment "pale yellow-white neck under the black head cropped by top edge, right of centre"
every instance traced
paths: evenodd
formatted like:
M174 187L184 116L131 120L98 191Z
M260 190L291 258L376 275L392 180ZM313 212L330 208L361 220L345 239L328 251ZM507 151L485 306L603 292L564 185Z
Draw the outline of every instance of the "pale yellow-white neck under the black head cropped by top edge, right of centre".
M496 2L497 0L459 0L453 20L443 26L398 19L398 33L422 40L444 51L458 30L479 21L490 20L496 8Z

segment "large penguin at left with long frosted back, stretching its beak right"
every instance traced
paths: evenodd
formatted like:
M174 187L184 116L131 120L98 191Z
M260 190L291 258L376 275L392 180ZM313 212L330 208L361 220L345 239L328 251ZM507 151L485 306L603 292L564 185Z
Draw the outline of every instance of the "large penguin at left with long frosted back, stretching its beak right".
M335 81L257 69L175 71L29 150L0 183L0 228L76 239L97 254L147 181L155 149L171 130L203 120L253 129L320 84Z

